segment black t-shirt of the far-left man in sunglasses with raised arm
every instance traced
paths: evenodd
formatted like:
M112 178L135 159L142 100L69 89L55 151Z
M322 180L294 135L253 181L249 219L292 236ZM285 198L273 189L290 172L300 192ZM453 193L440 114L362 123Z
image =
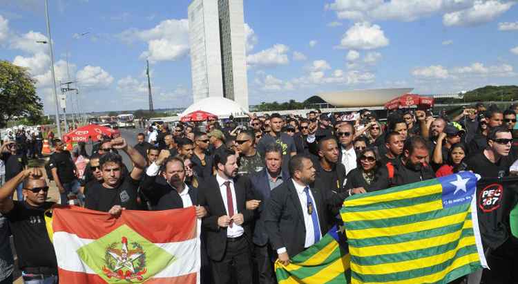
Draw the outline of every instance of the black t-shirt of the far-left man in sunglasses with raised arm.
M6 216L15 240L18 266L21 270L48 267L57 273L56 254L44 218L45 211L55 203L45 202L40 207L32 207L26 202L13 202L15 207Z

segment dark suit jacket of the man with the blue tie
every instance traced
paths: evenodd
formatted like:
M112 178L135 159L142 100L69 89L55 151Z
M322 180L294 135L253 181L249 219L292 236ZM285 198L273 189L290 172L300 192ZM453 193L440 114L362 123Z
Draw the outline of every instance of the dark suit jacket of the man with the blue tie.
M334 193L311 187L320 232L325 235L329 230L328 211L339 205L347 193ZM304 250L306 227L302 207L293 180L280 184L273 191L267 204L265 227L273 249L286 247L289 256L296 256Z

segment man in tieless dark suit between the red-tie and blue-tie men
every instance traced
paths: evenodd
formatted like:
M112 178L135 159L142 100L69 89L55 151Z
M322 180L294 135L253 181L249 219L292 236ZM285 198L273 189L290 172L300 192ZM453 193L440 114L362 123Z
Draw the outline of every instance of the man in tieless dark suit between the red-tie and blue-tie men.
M289 180L287 174L282 173L282 147L279 144L269 144L265 148L266 168L250 176L253 196L260 200L256 210L256 224L253 229L253 255L254 265L257 265L258 280L260 284L274 284L273 260L276 256L268 242L268 234L265 229L266 203L270 198L272 189L282 182ZM253 202L253 200L252 200ZM253 209L253 207L252 207Z

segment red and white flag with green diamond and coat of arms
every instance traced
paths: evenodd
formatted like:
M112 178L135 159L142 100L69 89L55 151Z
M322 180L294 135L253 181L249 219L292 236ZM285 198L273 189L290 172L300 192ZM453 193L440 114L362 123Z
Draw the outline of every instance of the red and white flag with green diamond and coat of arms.
M57 207L51 222L60 283L199 283L194 207L128 210L119 218Z

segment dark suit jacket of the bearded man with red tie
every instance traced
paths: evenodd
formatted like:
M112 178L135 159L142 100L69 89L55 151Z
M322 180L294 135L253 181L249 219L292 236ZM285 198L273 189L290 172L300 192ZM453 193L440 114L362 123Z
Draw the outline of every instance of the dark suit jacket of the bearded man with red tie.
M250 191L247 189L247 179L239 178L234 180L236 191L236 205L238 212L243 214L244 236L251 243L251 229L249 223L253 220L253 212L246 209L247 200L251 199ZM202 219L202 229L207 241L207 253L213 261L221 261L227 249L227 228L218 226L218 218L227 215L224 201L220 192L220 185L215 176L204 179L198 191L198 201L200 205L207 209L207 216Z

